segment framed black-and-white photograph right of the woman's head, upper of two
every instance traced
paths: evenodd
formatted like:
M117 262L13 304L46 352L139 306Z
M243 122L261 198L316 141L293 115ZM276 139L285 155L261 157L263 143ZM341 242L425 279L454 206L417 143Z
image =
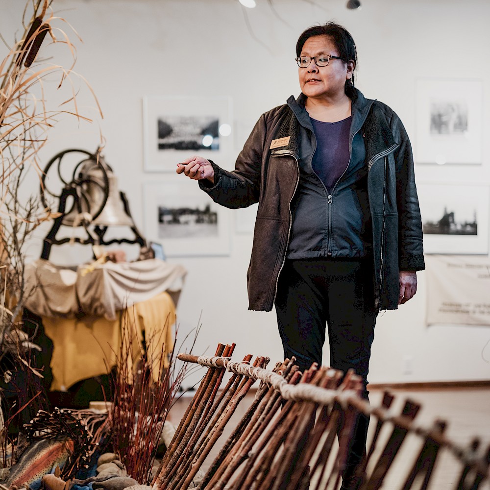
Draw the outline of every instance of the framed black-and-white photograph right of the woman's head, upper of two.
M481 81L417 80L417 163L481 164L482 125Z

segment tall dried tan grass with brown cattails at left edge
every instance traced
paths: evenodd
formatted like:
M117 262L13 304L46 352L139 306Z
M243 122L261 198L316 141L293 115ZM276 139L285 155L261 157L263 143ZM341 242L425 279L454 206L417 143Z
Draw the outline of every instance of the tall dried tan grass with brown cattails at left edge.
M51 3L52 0L26 2L20 19L24 29L22 39L9 44L0 35L8 49L6 56L0 59L0 376L8 382L4 366L8 356L14 374L17 367L24 370L28 385L41 376L29 362L32 344L24 338L21 340L22 336L12 335L23 326L24 248L32 232L56 213L40 210L37 196L21 197L20 187L29 171L41 177L39 151L46 145L49 130L60 116L91 122L78 110L73 77L82 79L93 94L85 79L73 72L75 48L64 28L69 27L73 35L78 35L65 19L54 15ZM43 49L48 44L68 50L70 66L53 63L53 58L63 54L57 48L52 50L53 58L43 59ZM59 77L58 83L49 82L48 78L53 75ZM66 100L50 108L49 99L54 97L54 92L63 93L66 89ZM97 98L93 96L102 116ZM4 418L8 419L9 414ZM2 435L4 431L0 430ZM6 438L0 442L6 444Z

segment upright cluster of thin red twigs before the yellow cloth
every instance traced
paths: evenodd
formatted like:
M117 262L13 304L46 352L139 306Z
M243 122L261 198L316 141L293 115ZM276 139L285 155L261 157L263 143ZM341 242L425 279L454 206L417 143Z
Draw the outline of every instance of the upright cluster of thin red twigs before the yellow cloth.
M166 328L171 328L168 323L169 320ZM120 455L128 474L146 484L151 479L163 426L186 376L187 364L175 372L175 343L167 361L166 346L161 340L165 328L155 334L158 338L147 339L147 345L161 346L160 352L152 352L139 342L129 324L131 322L123 318L121 349L113 379L113 404L108 419L109 437L113 451ZM199 328L195 330L191 351L198 331ZM176 326L175 339L177 334Z

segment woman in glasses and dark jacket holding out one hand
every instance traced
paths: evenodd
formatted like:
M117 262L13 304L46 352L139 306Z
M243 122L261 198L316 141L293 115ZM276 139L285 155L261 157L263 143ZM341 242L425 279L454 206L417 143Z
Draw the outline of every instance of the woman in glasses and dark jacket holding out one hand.
M259 203L249 309L275 305L285 357L321 363L328 325L330 366L367 385L376 315L411 299L424 269L412 149L392 109L354 88L347 30L310 27L296 55L301 95L262 115L235 171L194 156L177 173L226 207ZM360 484L367 426L360 419L343 489Z

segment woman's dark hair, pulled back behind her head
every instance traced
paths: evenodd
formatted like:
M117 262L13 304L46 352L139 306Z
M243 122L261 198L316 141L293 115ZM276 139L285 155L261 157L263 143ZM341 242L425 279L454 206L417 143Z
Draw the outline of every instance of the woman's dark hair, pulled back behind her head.
M350 35L350 32L342 27L342 25L335 24L335 22L327 22L324 25L313 25L308 27L298 39L296 43L296 56L301 54L304 44L307 39L313 36L328 36L335 47L339 51L339 56L345 63L349 60L354 61L354 73L357 70L357 49L354 39ZM354 90L354 73L350 80L345 80L345 94L350 98L356 97L356 91Z

